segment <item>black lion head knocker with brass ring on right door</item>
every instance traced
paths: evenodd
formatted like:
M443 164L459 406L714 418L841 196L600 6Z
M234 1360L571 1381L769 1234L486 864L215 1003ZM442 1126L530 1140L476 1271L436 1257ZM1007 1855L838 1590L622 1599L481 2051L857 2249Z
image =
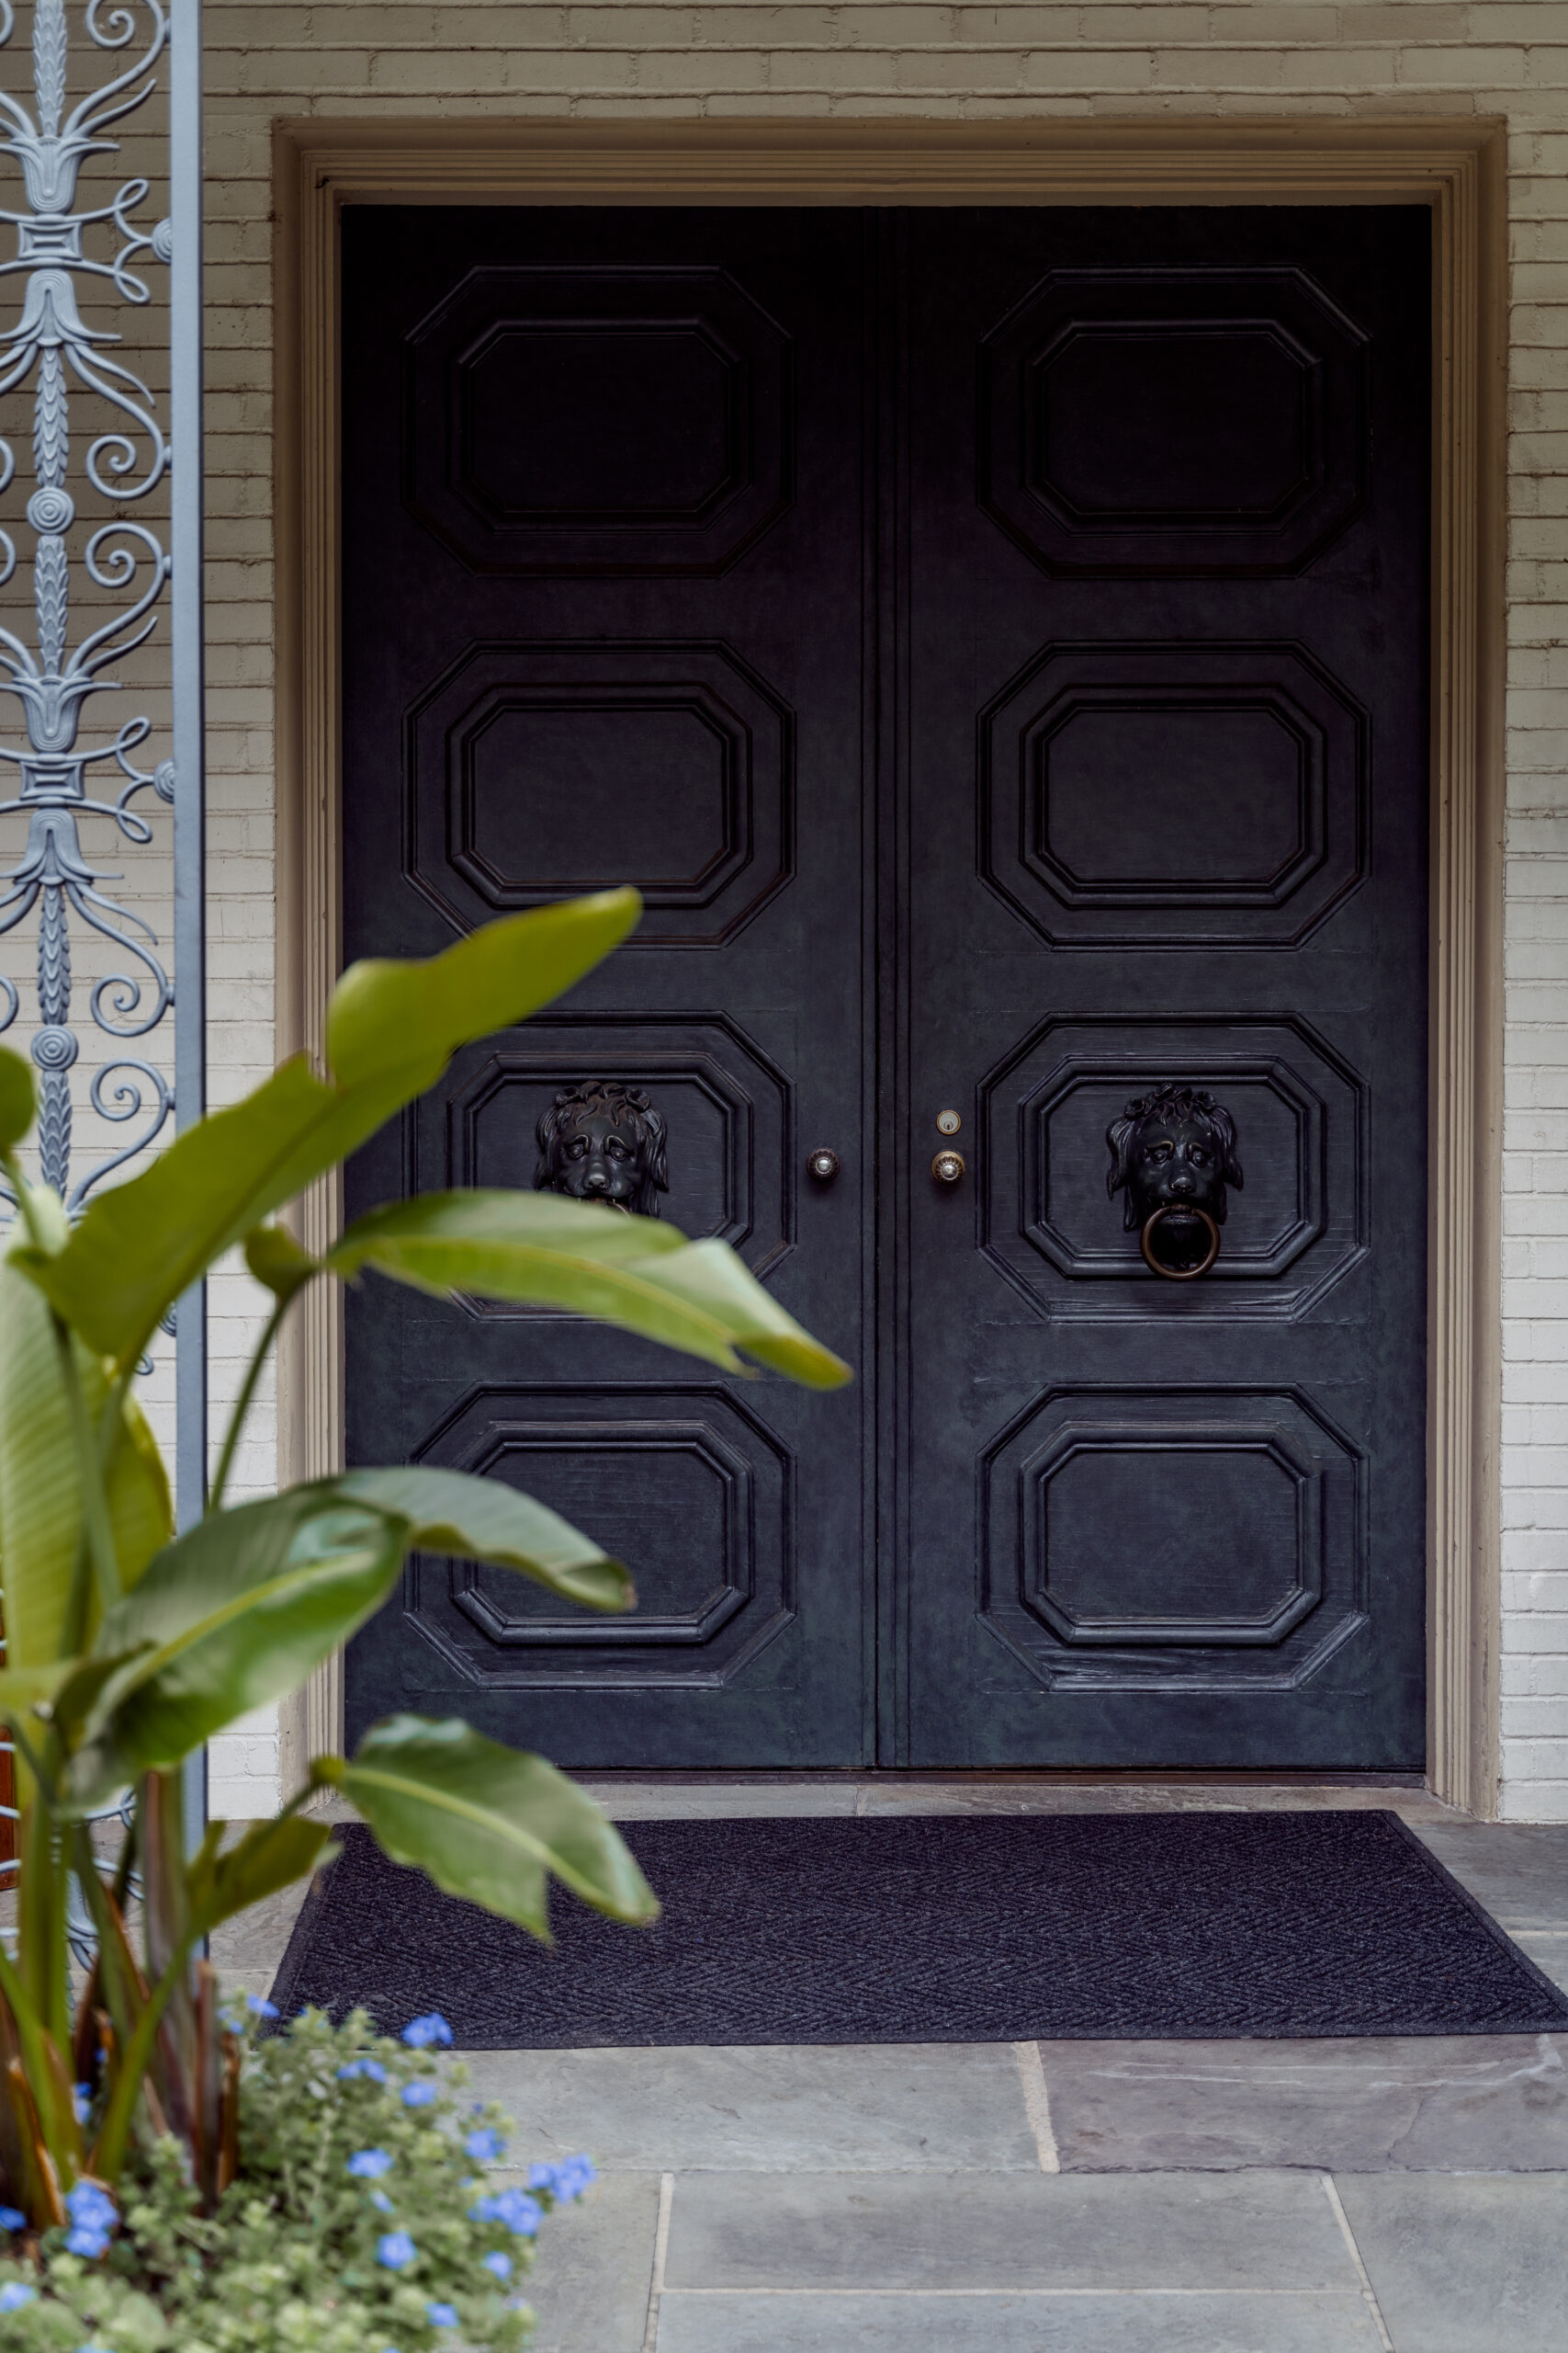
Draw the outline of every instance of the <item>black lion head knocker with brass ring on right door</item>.
M1126 1193L1124 1226L1143 1245L1150 1273L1168 1282L1206 1275L1220 1257L1225 1186L1241 1191L1237 1122L1206 1087L1154 1087L1105 1129L1114 1200Z

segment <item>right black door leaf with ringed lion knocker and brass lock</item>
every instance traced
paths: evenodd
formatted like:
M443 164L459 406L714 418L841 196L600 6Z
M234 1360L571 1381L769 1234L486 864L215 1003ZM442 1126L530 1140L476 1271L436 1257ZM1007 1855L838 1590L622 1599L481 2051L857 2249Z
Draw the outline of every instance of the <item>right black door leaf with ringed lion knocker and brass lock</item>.
M1413 1769L1427 216L903 235L896 1753Z

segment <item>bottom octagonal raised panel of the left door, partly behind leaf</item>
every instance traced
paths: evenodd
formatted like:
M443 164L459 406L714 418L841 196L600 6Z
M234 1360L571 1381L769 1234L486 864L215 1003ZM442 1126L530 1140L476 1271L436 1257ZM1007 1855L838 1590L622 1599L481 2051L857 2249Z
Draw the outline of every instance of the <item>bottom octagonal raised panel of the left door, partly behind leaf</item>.
M788 1457L719 1388L487 1388L416 1459L538 1497L637 1584L632 1614L597 1617L508 1569L416 1555L409 1624L473 1682L715 1687L790 1619Z

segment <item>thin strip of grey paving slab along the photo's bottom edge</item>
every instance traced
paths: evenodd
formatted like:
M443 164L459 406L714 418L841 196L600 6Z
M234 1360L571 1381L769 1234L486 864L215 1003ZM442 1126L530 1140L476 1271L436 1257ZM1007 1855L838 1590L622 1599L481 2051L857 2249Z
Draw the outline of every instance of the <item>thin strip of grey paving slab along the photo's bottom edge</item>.
M1359 2294L668 2294L658 2353L1380 2353Z

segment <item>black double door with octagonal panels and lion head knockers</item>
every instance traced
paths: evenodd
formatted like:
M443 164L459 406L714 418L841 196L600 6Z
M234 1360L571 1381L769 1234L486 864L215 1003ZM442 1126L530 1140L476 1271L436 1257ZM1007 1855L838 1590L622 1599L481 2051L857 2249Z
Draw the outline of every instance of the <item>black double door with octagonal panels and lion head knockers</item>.
M350 1459L642 1607L416 1560L350 1734L1418 1767L1427 216L364 207L343 289L348 955L646 901L350 1209L609 1188L858 1367L371 1280Z

